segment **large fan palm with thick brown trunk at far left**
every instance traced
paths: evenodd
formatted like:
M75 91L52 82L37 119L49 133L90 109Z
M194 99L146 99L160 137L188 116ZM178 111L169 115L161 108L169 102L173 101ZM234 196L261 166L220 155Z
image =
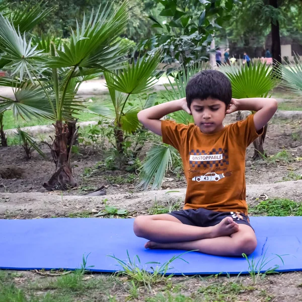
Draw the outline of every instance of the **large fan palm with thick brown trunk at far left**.
M100 71L117 68L126 54L126 49L117 42L127 23L127 3L116 9L113 5L99 7L87 21L84 15L82 26L77 22L71 37L56 48L38 50L16 31L11 22L0 15L0 50L2 58L10 60L15 78L4 79L6 86L15 88L16 100L3 98L0 113L12 109L16 116L35 115L55 120L55 137L51 151L56 164L55 173L43 186L48 190L66 189L75 185L71 174L71 147L67 145L68 126L72 114L82 106L74 99L74 81Z

